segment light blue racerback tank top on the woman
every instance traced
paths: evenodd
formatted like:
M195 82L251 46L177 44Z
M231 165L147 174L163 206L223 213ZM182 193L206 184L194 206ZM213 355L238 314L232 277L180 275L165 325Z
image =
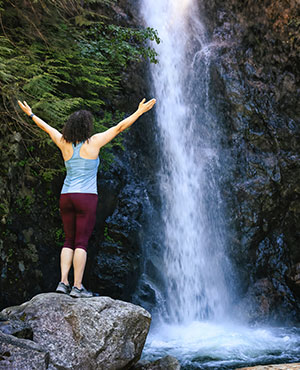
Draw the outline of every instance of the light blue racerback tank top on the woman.
M82 143L76 146L72 144L72 158L65 161L67 176L64 181L61 194L66 193L91 193L97 192L97 171L100 163L99 157L96 159L82 158L79 154Z

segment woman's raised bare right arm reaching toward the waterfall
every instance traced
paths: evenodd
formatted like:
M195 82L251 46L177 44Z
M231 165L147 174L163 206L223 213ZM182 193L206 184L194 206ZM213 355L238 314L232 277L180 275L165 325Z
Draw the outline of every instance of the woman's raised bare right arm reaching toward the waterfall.
M140 102L138 109L131 116L119 122L116 126L113 126L104 132L100 132L99 134L93 135L93 141L95 142L97 147L100 149L102 146L109 143L120 132L126 130L129 126L131 126L142 114L148 112L148 110L150 110L156 103L155 99L151 99L146 103L145 101L146 99L144 98Z

